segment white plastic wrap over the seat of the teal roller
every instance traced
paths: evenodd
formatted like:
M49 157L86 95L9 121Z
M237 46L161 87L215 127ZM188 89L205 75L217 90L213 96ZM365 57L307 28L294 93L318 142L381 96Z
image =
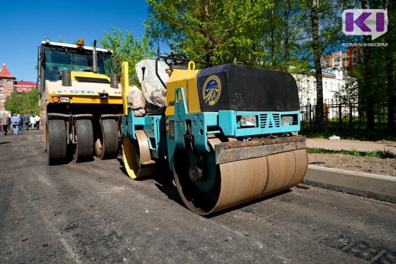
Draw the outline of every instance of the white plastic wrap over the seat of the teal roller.
M142 67L146 67L145 80L143 80ZM165 62L158 61L158 74L165 85L169 79L168 74L165 72L168 68ZM166 89L155 74L155 60L142 60L135 65L135 69L146 100L159 107L165 106Z

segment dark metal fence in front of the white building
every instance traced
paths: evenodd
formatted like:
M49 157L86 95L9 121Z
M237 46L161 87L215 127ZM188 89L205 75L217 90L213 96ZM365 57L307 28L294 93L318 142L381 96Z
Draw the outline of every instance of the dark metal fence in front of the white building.
M367 109L374 110L374 130L377 132L388 127L388 101L332 103L323 105L325 131L364 130L367 126ZM301 129L315 129L316 105L300 105ZM395 111L394 111L395 113ZM396 114L394 115L396 121ZM394 127L396 128L396 122Z

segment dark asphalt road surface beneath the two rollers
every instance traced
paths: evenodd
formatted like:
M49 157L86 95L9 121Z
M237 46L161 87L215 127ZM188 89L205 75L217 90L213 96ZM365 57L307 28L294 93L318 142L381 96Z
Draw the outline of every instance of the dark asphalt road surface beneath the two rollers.
M396 205L297 185L205 218L166 172L48 166L41 131L0 134L0 263L395 263Z

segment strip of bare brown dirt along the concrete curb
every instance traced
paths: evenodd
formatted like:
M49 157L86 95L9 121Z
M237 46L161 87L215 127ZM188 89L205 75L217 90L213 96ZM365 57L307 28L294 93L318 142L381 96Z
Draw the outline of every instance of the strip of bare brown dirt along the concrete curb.
M308 153L308 164L354 172L396 176L396 159Z

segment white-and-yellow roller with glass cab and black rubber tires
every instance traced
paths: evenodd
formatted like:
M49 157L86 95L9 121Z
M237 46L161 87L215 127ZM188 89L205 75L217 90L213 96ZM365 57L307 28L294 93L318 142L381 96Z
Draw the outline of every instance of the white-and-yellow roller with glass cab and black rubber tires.
M46 39L37 71L49 165L116 158L123 104L111 49Z

